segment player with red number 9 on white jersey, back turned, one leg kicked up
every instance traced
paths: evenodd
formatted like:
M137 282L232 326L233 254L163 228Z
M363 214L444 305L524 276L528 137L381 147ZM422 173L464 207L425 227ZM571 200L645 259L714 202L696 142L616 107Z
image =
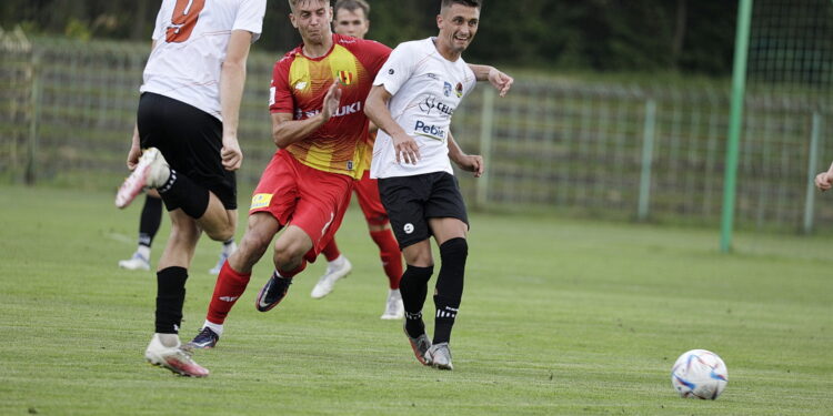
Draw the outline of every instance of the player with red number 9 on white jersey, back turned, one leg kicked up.
M265 0L163 0L140 89L128 153L133 173L116 205L155 189L171 217L157 268L155 333L144 352L185 376L203 368L180 346L188 267L200 234L228 241L237 226L237 130L249 49L261 33ZM143 149L143 150L142 150Z

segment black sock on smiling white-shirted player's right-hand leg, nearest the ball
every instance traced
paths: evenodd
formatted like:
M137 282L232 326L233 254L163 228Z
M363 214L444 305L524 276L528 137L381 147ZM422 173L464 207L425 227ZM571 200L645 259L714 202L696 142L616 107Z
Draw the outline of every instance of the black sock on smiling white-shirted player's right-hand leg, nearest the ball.
M463 277L465 258L469 256L469 244L465 239L451 239L440 246L440 275L436 277L434 306L434 344L451 341L451 328L454 326L460 301L463 298Z

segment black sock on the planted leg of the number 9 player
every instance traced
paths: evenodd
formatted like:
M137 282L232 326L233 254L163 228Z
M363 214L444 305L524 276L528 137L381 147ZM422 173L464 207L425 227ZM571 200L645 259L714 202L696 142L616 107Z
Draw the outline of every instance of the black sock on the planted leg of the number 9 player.
M157 332L179 334L182 323L182 305L185 303L185 280L183 267L167 267L157 272Z

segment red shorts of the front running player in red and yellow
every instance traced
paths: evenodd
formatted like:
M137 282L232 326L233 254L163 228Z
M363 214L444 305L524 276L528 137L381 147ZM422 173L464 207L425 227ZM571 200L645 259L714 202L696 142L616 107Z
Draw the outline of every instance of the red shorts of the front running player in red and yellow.
M281 225L295 225L312 240L304 258L312 263L335 235L350 203L353 179L319 171L279 150L263 171L249 215L268 212Z

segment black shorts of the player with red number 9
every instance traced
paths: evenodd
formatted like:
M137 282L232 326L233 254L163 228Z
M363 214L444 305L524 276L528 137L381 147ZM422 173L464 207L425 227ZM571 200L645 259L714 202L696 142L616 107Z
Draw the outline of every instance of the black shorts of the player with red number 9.
M227 171L220 158L220 120L182 101L145 92L139 99L137 121L142 149L159 149L171 169L207 187L227 210L237 210L234 172ZM165 201L168 211L179 207L171 205Z

